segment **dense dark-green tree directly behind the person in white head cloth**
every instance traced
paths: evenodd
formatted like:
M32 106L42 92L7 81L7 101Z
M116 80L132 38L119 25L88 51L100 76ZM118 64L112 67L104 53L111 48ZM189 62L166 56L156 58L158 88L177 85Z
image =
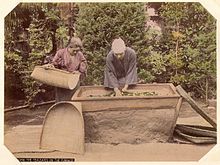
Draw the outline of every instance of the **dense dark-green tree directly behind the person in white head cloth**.
M83 38L90 66L86 84L103 84L105 57L117 36L138 54L138 68L146 65L149 41L145 24L149 18L144 3L87 3L79 8L76 33Z

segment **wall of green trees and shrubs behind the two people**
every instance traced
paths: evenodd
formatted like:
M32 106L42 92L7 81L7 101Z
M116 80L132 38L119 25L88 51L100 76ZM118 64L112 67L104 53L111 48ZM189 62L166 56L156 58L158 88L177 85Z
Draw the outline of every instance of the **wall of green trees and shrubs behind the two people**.
M146 9L155 5L161 32L147 26ZM6 103L54 99L53 87L30 73L74 33L89 63L83 85L103 83L105 57L120 36L137 52L139 83L172 82L194 97L216 97L216 20L199 3L20 3L5 17Z

